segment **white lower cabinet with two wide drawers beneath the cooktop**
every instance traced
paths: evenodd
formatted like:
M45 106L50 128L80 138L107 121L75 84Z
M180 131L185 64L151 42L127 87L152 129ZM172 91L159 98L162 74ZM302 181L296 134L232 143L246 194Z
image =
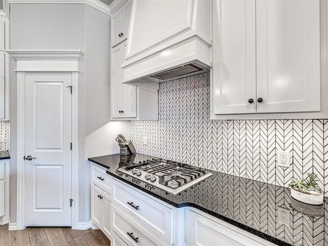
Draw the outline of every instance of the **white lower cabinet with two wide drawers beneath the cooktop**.
M179 228L178 209L116 179L111 211L112 235L127 245L181 245L183 236L174 230Z

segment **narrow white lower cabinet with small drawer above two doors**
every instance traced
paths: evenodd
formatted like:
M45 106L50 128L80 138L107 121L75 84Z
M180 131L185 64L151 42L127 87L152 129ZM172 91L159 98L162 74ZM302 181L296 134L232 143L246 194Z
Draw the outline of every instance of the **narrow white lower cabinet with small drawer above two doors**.
M91 166L91 221L93 226L100 229L108 238L111 237L110 221L111 221L111 195L110 188L106 188L112 179L106 170L95 165ZM101 188L99 188L100 186Z

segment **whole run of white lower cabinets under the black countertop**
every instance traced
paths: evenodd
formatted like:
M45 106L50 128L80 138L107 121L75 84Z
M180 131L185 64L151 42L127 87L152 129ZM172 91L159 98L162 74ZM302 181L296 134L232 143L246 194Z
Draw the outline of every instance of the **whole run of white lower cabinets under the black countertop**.
M101 170L96 165L92 169ZM172 207L107 176L111 178L111 194L91 184L91 220L110 238L112 246L276 245L198 209ZM104 177L101 174L101 179Z

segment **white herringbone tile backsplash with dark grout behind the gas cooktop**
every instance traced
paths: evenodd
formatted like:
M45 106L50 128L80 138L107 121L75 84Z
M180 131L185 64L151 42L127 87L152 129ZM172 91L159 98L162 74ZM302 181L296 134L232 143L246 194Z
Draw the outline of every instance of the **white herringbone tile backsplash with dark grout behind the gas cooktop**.
M209 82L203 73L160 84L159 120L131 121L136 151L283 187L314 172L328 195L328 119L210 120ZM291 168L277 167L278 150Z

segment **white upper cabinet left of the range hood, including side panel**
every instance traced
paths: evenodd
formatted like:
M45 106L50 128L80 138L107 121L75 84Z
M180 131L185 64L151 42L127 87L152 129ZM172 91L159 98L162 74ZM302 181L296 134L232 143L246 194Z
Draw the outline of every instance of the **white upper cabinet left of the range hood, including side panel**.
M122 84L121 66L126 55L126 38L130 23L132 1L117 0L111 4L111 6L114 5L115 7L113 7L114 10L111 14L111 119L157 120L158 89Z

